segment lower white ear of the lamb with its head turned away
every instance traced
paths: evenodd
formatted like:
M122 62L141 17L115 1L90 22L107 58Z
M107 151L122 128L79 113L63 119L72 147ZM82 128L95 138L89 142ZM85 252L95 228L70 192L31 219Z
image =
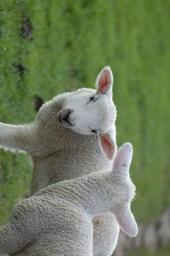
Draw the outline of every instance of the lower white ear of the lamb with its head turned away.
M124 205L119 211L114 212L120 228L130 237L137 236L138 227L134 215L130 210L130 205Z

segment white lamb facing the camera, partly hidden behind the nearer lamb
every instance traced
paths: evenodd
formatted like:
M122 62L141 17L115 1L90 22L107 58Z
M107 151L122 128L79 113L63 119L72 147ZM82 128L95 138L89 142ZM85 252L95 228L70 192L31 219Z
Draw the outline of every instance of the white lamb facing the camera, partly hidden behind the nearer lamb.
M116 152L109 143L116 141L112 82L111 68L105 67L98 74L97 90L82 88L54 97L43 104L32 124L0 123L0 147L23 150L33 160L31 194L61 180L111 168L109 159ZM119 234L113 214L98 216L93 225L94 256L112 255Z

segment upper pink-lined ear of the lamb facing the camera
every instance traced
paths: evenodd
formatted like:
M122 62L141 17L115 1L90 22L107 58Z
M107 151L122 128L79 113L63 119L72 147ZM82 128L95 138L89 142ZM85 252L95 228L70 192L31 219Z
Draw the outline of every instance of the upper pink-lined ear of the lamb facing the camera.
M97 93L105 93L112 99L112 70L109 66L104 67L98 74L96 81Z

